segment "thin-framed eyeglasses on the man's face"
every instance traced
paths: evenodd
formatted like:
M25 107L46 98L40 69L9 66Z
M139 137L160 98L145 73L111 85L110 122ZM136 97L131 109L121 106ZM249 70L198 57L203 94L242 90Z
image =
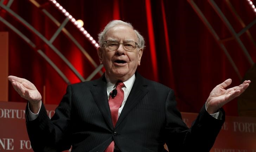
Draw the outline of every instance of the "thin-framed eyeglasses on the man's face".
M119 48L120 44L123 45L123 49L126 50L126 51L133 51L136 46L138 45L136 42L134 41L124 41L123 43L120 43L119 41L116 41L116 40L108 40L108 41L105 41L103 43L103 45L106 44L106 47L109 49L109 50L116 50Z

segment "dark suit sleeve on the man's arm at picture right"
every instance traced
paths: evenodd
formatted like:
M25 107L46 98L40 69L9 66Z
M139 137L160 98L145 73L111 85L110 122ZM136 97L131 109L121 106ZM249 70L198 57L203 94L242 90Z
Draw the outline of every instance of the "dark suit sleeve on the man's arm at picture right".
M225 121L224 110L220 111L222 118L213 118L204 105L189 129L176 108L173 90L169 91L165 104L165 139L169 152L210 151Z

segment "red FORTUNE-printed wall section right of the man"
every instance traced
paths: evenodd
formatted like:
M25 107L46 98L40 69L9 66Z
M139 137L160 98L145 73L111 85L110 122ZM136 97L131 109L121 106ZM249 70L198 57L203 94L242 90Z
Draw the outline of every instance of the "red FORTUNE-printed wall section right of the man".
M190 127L196 113L181 113ZM210 152L256 152L256 118L226 116L215 144Z

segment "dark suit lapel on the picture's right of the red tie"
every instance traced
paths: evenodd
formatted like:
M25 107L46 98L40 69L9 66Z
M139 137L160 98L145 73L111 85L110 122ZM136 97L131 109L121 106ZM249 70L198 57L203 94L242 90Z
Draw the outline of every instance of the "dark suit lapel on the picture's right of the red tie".
M126 115L134 108L134 106L141 101L141 99L147 94L147 84L144 84L144 79L139 73L135 73L136 78L133 84L133 88L127 98L124 108L116 122L115 128L122 122Z

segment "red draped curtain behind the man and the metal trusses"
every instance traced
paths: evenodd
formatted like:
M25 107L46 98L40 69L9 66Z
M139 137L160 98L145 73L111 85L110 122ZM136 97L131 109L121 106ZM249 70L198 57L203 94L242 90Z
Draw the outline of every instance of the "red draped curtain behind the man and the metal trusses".
M230 12L226 2L215 0L227 16L232 26L239 32L243 27ZM5 0L5 3L8 0ZM60 22L65 18L47 0L38 0ZM141 66L137 69L142 76L165 84L175 91L178 108L183 112L199 112L210 91L227 78L232 78L232 86L239 85L241 80L232 68L223 50L218 46L209 30L199 19L186 0L58 0L75 19L84 21L84 28L97 40L97 34L111 20L128 21L141 32L146 40ZM205 14L220 39L231 37L228 28L205 0L195 0ZM254 2L255 3L255 2ZM246 25L255 19L255 13L247 0L231 1ZM49 20L40 9L29 1L14 1L11 9L35 27L48 40L57 30L57 26ZM31 39L37 49L43 50L51 60L64 72L71 83L80 82L68 66L37 36L31 34L0 8L0 16L15 25ZM76 29L71 22L66 27L99 64L94 46ZM44 96L45 103L58 104L65 94L67 84L57 72L26 42L6 25L0 22L0 31L9 32L9 75L26 78L34 83ZM256 39L256 28L250 32ZM241 36L252 59L256 60L256 51L248 36ZM79 73L87 78L95 69L78 48L61 33L53 42ZM243 51L235 40L225 42L231 57L235 61L242 76L251 67ZM100 77L97 74L95 78ZM44 89L45 88L45 89ZM9 86L9 101L26 102ZM237 102L225 105L228 115L237 116Z

